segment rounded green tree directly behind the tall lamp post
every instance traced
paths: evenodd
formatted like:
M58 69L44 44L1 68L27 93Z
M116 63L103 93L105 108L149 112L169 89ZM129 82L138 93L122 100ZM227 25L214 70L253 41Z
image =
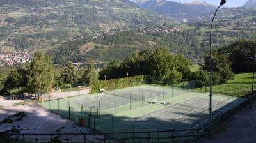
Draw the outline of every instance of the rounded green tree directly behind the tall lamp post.
M205 55L205 63L202 66L203 70L210 72L210 56ZM234 73L231 69L231 62L225 54L218 54L216 50L212 50L212 82L213 84L224 84L227 80L234 78Z

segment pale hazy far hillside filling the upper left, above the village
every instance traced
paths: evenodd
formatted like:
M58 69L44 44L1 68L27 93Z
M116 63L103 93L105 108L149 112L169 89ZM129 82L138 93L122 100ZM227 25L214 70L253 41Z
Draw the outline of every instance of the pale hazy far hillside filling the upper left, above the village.
M44 47L97 31L162 24L128 0L1 0L0 52Z

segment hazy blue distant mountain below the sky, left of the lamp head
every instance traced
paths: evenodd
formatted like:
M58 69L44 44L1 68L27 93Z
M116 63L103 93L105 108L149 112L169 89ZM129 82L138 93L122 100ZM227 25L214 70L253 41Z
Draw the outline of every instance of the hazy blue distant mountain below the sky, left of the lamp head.
M212 4L199 1L184 4L166 0L134 0L133 2L148 10L179 20L199 17L216 9Z

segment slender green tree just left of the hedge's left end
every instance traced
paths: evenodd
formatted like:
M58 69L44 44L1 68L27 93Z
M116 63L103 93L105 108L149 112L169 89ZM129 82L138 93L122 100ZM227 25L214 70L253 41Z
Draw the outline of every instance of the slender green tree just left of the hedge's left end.
M88 68L84 71L82 80L86 84L86 86L90 86L90 83L95 82L98 79L99 79L99 74L95 70L95 65L93 62L90 62Z

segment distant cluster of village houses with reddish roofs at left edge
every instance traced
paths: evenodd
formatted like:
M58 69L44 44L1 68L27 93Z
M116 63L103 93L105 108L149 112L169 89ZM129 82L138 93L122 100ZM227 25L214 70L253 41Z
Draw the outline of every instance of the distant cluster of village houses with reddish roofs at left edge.
M24 63L30 63L31 61L33 61L33 59L27 51L0 54L0 66L22 65Z

